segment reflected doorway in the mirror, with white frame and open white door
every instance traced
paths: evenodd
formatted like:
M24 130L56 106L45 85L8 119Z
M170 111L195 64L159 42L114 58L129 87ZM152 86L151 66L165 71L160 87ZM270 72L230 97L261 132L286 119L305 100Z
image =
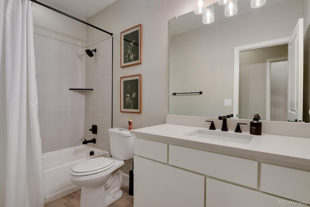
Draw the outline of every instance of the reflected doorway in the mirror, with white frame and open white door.
M289 38L235 48L233 113L238 118L259 113L263 120L302 120L302 22ZM288 63L280 63L283 59ZM282 69L275 68L279 65Z

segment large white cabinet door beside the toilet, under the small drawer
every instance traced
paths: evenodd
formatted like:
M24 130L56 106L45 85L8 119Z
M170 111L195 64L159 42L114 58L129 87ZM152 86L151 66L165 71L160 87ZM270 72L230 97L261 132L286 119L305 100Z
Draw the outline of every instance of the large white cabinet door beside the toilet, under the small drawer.
M134 156L134 207L204 207L204 176Z

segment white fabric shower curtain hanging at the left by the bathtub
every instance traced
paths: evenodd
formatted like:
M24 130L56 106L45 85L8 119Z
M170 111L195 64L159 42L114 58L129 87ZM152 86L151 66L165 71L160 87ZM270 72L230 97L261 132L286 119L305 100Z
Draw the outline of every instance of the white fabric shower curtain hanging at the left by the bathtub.
M43 207L31 1L1 1L0 206Z

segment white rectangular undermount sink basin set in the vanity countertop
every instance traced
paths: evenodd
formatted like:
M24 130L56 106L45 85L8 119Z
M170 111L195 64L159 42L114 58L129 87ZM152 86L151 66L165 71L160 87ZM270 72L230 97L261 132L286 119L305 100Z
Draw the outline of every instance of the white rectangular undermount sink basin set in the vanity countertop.
M203 130L198 129L195 131L191 131L184 135L191 136L191 137L201 137L205 139L211 140L218 140L224 142L233 142L233 143L244 143L248 144L251 142L253 136L248 134L237 134L237 133L230 133L225 131L211 131L211 130Z

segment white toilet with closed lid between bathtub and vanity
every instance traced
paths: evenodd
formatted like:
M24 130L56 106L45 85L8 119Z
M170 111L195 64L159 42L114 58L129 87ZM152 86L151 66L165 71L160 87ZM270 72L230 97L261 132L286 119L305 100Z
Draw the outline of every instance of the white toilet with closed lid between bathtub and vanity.
M110 128L111 158L93 158L71 169L71 181L81 187L80 207L107 207L123 196L124 160L134 157L134 136L124 128Z

